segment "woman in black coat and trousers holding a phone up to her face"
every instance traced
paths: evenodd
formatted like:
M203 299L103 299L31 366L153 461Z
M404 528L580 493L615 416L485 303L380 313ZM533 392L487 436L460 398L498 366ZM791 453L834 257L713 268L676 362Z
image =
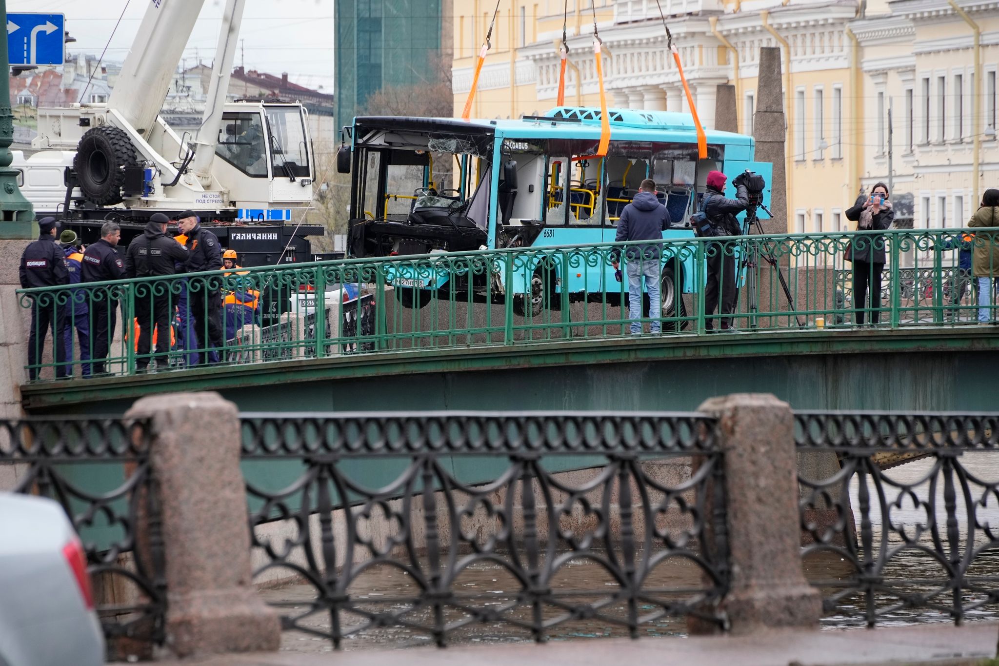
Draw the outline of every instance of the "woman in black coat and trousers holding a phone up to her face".
M878 183L870 197L861 195L852 208L846 210L846 219L857 223L857 231L888 229L895 220L895 211L888 201L888 186ZM846 261L853 264L853 307L856 323L863 326L870 288L871 324L877 324L881 308L881 272L884 271L885 248L883 236L854 237L846 251Z

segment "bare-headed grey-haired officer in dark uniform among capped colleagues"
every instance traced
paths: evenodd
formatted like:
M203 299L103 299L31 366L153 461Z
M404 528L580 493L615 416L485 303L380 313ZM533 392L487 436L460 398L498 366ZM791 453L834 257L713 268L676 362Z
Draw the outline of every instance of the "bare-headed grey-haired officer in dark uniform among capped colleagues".
M125 277L125 265L115 251L121 237L121 227L115 223L105 222L101 225L101 240L83 253L83 261L80 263L81 282L100 283ZM118 324L118 299L110 287L92 287L88 306L90 333L94 337L93 373L106 374L108 350Z

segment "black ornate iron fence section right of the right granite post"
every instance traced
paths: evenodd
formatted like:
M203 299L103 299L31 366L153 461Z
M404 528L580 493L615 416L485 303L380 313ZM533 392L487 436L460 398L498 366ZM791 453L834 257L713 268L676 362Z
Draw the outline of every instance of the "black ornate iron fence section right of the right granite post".
M833 462L798 478L827 614L959 623L999 603L999 412L797 412L795 425L799 458Z

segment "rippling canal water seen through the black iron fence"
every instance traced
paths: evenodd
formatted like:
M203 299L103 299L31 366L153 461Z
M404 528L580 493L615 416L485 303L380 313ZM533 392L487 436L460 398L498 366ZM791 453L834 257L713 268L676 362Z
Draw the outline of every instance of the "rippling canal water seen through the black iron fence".
M956 557L965 555L968 547L982 549L973 558L967 576L974 578L981 590L966 590L962 593L962 605L966 608L988 600L985 590L999 590L999 580L989 582L980 580L995 577L999 579L999 548L986 548L991 542L988 535L990 526L994 525L995 537L999 542L999 492L990 484L999 483L999 452L966 453L958 458L959 464L967 472L982 481L985 485L971 482L965 488L957 483L957 530L959 543ZM893 481L905 486L903 489L884 483L885 504L882 509L878 492L873 482L869 483L871 496L871 529L874 535L872 555L877 557L882 551L890 552L882 577L888 591L882 591L875 596L878 609L879 625L908 625L932 622L952 622L947 608L953 603L952 593L941 587L939 582L946 579L945 567L931 553L937 550L933 534L926 529L927 515L930 511L929 497L934 494L931 481L937 479L935 488L935 511L940 524L940 537L946 553L950 558L950 546L946 536L946 513L943 500L943 477L934 473L938 461L926 458L909 462L899 467L883 472L886 481ZM851 487L851 502L854 510L857 529L860 528L859 487L856 477ZM967 499L966 499L967 497ZM976 519L969 523L967 506L975 505ZM904 536L903 536L904 535ZM909 539L909 542L906 542ZM971 545L974 544L974 545ZM837 553L813 553L805 558L805 574L813 582L831 582L832 586L822 590L828 597L837 591L836 583L846 580L852 570L849 562ZM651 590L680 590L673 593L652 593L658 600L680 600L690 598L689 591L702 585L700 571L689 560L672 558L663 562L652 571L644 586ZM469 606L489 608L503 612L505 604L512 601L511 590L519 589L520 584L505 569L499 565L480 562L462 573L456 581L456 592L467 597ZM600 590L608 592L615 589L617 583L606 573L602 566L585 559L569 561L560 569L559 575L552 581L551 589L556 593L565 593L567 603L581 604L585 602L598 603L606 599ZM398 568L382 566L372 568L358 577L351 589L352 599L365 604L365 607L375 612L388 610L403 610L408 607L405 601L396 600L399 597L415 595L417 584ZM685 592L683 590L686 590ZM896 594L931 594L930 607L904 608L898 606ZM269 602L288 604L284 612L290 614L305 613L315 597L313 588L309 585L290 585L278 589L267 590L265 597ZM934 608L932 604L942 606ZM654 614L658 606L651 603L639 605L640 614ZM836 609L826 612L822 620L824 628L862 627L866 625L864 618L865 599L857 594L841 598ZM602 617L574 620L556 625L546 632L548 640L570 640L580 638L597 638L611 636L627 636L627 630L613 621L613 618L625 616L623 605L612 605L601 609ZM558 615L555 609L546 609L544 617L550 619ZM361 621L357 616L343 616L345 626L352 626ZM406 619L423 625L432 624L431 611L421 609L406 616ZM449 621L458 621L468 614L451 609L446 615ZM510 622L503 623L471 623L466 627L449 634L449 644L505 643L532 640L528 629L517 626L517 621L529 622L530 609L518 608L505 611L503 614ZM994 620L999 618L999 604L984 604L980 608L967 610L966 621ZM329 613L316 613L300 622L303 626L317 630L330 630ZM639 630L640 636L682 636L686 635L686 621L682 618L664 616L643 624ZM386 647L411 647L432 645L434 640L427 633L402 627L378 628L367 630L356 636L344 639L344 649L373 649ZM331 642L319 636L313 636L299 631L285 631L282 650L319 652L332 649Z

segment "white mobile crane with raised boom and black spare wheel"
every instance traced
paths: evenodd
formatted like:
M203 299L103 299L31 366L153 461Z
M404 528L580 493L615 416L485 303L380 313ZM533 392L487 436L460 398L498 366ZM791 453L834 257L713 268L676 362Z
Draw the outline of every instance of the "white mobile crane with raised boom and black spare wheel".
M322 235L323 228L300 226L296 233L281 222L313 197L308 112L297 102L226 101L246 0L227 0L205 112L194 136L179 136L160 116L203 5L204 0L149 0L107 103L39 109L32 147L40 152L14 166L25 172L29 198L33 169L41 176L43 169L65 167L65 195L55 208L62 209L64 226L77 229L86 242L96 240L108 220L118 222L127 238L154 213L192 210L222 226L218 235L224 244L230 236L224 228L233 225L240 227L233 240L264 242L255 250L273 255L271 261L261 257L250 265L276 262L279 254L283 261L296 261L296 252L298 261L311 259L306 237Z

